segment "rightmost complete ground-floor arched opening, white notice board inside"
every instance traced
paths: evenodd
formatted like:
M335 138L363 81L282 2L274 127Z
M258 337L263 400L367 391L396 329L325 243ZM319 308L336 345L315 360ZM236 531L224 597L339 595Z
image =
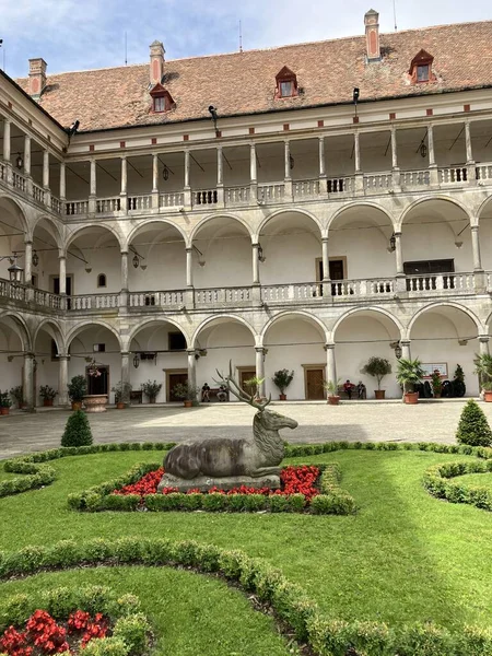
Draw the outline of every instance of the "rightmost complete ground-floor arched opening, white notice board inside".
M467 396L478 396L478 377L473 374L473 358L479 351L478 328L464 309L431 306L413 320L409 337L412 359L418 358L429 373L440 368L443 380L453 380L459 364L465 372Z

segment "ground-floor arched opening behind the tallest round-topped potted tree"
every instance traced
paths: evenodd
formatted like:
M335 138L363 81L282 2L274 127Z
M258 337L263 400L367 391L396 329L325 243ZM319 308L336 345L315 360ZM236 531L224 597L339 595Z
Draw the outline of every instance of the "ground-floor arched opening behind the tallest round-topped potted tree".
M374 390L377 389L376 378L362 373L362 370L370 358L384 358L391 365L393 373L384 378L382 389L386 391L386 398L400 397L401 391L395 378L395 348L400 338L400 329L395 320L380 312L361 309L342 317L333 335L340 384L350 380L356 386L362 383L366 389L366 398L374 398ZM356 398L356 395L352 398Z

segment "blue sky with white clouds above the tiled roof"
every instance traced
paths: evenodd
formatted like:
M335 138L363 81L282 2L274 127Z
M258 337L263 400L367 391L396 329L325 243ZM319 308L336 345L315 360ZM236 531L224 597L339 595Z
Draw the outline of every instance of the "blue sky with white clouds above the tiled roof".
M149 61L162 40L167 59L266 48L364 33L364 13L379 12L393 32L394 0L0 0L0 68L25 77L30 58L48 74ZM398 30L492 19L490 0L395 0ZM343 8L340 11L339 8ZM492 31L492 26L491 26Z

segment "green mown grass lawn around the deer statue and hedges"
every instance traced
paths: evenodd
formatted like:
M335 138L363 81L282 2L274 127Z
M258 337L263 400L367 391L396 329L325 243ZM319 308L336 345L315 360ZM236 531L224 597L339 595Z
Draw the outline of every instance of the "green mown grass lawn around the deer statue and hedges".
M333 618L393 624L433 620L455 630L465 623L492 625L492 514L438 501L421 483L431 465L466 456L351 449L289 460L338 461L341 484L360 508L349 517L68 511L70 492L161 455L124 452L49 462L58 472L52 485L0 500L0 548L16 550L63 538L192 538L267 559ZM492 482L491 475L462 478ZM291 653L271 620L254 612L239 593L187 572L137 567L43 574L2 584L0 591L56 587L70 577L139 594L163 637L160 654Z

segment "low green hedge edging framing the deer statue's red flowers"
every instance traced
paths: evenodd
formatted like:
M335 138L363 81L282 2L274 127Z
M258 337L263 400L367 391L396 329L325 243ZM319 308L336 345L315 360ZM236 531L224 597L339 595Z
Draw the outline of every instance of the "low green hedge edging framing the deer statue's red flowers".
M159 469L156 462L139 462L129 471L98 485L93 485L81 492L68 495L68 505L72 511L97 513L104 511L137 512L194 512L204 511L209 513L257 513L267 511L270 513L305 513L313 515L351 515L355 513L355 501L340 488L341 470L337 462L323 462L320 465L311 462L307 465L319 469L320 494L315 496L308 506L304 494L292 494L290 496L263 494L185 494L173 492L172 494L148 494L142 507L139 494L116 495L114 490L136 483L145 473ZM295 465L303 467L303 465Z

